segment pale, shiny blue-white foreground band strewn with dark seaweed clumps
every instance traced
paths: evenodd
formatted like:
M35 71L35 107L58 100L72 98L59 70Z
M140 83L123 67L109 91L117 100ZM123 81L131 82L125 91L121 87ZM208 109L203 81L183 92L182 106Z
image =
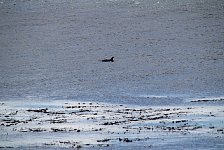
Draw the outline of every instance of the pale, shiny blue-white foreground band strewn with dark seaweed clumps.
M1 102L1 148L223 149L221 106ZM205 141L209 140L209 143Z

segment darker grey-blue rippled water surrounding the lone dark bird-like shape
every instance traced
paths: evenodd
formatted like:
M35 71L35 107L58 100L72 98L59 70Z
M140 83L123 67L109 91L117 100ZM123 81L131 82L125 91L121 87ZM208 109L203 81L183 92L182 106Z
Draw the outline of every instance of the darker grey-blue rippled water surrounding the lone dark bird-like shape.
M181 104L224 94L222 0L0 1L0 99ZM114 56L115 62L101 59Z

